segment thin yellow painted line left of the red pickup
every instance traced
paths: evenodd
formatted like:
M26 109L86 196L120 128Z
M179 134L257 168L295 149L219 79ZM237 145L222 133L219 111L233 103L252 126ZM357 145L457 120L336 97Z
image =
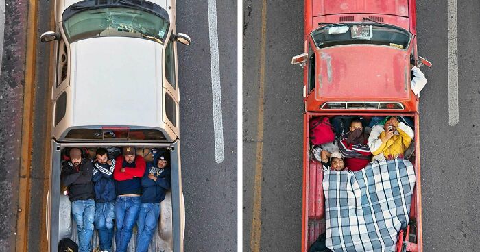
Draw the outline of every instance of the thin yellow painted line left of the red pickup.
M267 1L262 1L262 29L260 40L260 81L259 113L256 126L256 164L254 178L253 214L250 228L250 251L260 251L261 241L261 203L262 203L262 162L263 162L263 112L265 109L265 40L267 34Z

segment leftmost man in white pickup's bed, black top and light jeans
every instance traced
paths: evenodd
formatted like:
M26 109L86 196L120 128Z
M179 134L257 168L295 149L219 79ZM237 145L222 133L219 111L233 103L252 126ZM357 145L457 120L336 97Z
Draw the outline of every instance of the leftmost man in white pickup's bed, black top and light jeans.
M70 161L64 162L60 177L62 185L67 186L73 218L77 223L78 251L89 252L95 218L93 166L90 160L82 157L78 148L71 149L69 156Z

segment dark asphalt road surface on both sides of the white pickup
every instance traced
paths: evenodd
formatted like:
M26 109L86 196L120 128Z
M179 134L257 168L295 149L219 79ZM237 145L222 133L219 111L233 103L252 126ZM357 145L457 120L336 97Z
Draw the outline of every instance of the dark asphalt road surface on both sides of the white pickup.
M14 6L10 7L12 10L7 7L7 12L19 16L8 16L5 23L5 46L10 47L3 51L3 63L8 66L2 68L1 75L0 140L1 145L8 146L8 149L0 149L3 170L0 181L1 191L8 197L0 199L0 205L5 210L0 216L0 251L12 251L15 244L19 158L12 161L10 158L19 157L20 153L20 142L17 140L21 139L21 116L14 116L22 109L21 81L25 58L19 52L25 47L25 31L21 31L25 26L14 27L9 22L14 18L17 22L24 21L27 12L16 6L27 6L25 2L7 1ZM40 36L53 27L49 23L51 1L38 1L37 4ZM182 187L186 207L184 251L235 251L237 247L237 5L235 1L220 1L216 10L225 153L224 161L219 164L215 162L207 2L179 1L177 4L177 32L188 34L192 40L189 47L177 47ZM8 34L12 31L16 32ZM39 41L36 44L28 251L42 251L40 244L45 239L43 201L46 192L43 187L49 179L44 171L48 158L45 156L45 142L49 142L45 111L51 98L48 91L49 46ZM14 54L15 51L19 55ZM12 110L4 109L9 106Z

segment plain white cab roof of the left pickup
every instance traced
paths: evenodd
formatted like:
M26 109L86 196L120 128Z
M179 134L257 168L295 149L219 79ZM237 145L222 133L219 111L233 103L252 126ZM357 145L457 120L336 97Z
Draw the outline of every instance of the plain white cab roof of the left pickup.
M73 42L73 124L158 127L163 108L162 48L142 38Z

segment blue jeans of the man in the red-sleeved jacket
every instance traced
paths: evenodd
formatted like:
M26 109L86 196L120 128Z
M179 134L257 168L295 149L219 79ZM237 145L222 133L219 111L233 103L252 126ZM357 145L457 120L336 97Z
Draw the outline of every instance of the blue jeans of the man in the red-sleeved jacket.
M127 251L128 242L132 238L133 227L139 218L140 196L119 196L115 201L115 244L117 252Z

